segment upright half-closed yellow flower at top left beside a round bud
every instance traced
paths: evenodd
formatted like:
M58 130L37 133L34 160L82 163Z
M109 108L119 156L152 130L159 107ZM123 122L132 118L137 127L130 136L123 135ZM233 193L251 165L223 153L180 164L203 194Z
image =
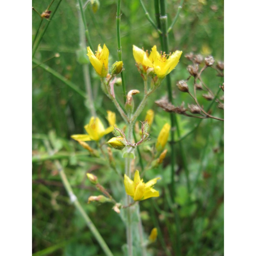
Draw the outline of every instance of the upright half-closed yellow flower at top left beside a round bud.
M98 51L94 54L90 48L87 47L87 56L95 69L95 71L101 76L106 77L108 74L108 55L109 51L107 46L104 44L103 49L98 45Z

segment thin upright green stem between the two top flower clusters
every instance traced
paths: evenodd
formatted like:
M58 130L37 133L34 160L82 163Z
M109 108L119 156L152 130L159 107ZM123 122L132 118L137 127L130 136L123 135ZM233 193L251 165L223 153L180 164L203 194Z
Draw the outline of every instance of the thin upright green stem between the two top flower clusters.
M117 0L117 11L116 11L116 32L117 32L117 53L118 53L118 60L122 60L122 47L121 47L121 35L120 35L120 22L121 22L121 0ZM125 80L124 80L124 71L121 72L122 78L122 88L123 88L123 98L124 103L126 101L126 88L125 88Z

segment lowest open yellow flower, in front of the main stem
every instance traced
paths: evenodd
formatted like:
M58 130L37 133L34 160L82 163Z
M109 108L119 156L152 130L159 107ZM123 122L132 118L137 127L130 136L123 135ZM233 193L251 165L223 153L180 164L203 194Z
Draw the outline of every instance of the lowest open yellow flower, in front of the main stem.
M140 179L140 173L138 170L135 172L133 181L124 174L124 187L126 194L132 196L134 201L157 197L159 196L159 192L153 188L153 185L155 185L156 181L159 179L160 178L155 178L144 183L143 179Z

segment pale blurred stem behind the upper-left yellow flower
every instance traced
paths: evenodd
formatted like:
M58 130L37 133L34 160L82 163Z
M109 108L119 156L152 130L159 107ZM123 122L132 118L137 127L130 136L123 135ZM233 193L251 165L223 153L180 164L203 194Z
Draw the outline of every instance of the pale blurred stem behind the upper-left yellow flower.
M82 20L82 14L83 10L78 12L78 26L79 26L79 39L80 39L80 47L82 49L86 48L86 38L85 38L85 29L83 27L83 20ZM86 88L86 92L87 92L87 100L88 100L88 105L91 111L91 116L96 117L96 111L95 111L95 107L94 107L94 101L93 101L93 95L92 95L92 84L91 84L91 80L90 80L90 73L89 73L89 66L88 64L83 64L82 65L83 68L83 75L84 75L84 84L85 84L85 88Z

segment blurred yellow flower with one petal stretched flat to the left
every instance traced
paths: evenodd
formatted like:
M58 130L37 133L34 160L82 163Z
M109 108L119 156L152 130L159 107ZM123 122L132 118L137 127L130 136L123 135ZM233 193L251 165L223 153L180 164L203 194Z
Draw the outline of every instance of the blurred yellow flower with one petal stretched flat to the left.
M92 116L89 124L84 126L84 129L88 134L75 134L72 135L71 138L74 140L88 141L88 140L96 140L99 141L102 136L112 132L114 130L114 126L110 126L107 129L104 128L98 117Z

